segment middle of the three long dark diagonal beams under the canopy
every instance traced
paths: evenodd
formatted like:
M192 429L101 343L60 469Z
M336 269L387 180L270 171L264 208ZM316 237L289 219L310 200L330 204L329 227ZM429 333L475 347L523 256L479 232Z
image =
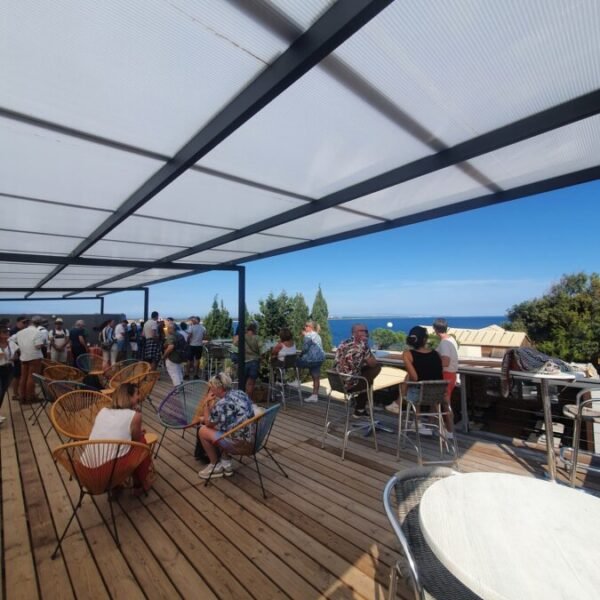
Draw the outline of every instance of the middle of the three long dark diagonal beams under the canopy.
M580 96L579 98L575 98L574 100L569 100L558 106L536 113L535 115L510 123L509 125L499 127L498 129L479 135L451 148L441 150L436 154L425 156L396 169L392 169L391 171L387 171L386 173L377 175L376 177L372 177L371 179L367 179L366 181L351 185L329 194L328 196L324 196L320 200L293 208L289 211L269 217L268 219L263 219L262 221L238 229L237 231L198 244L193 248L170 254L169 256L166 256L164 260L179 260L186 256L190 256L191 254L209 250L215 246L228 244L248 235L260 233L265 229L270 229L296 219L301 219L302 217L321 212L328 208L333 208L344 202L350 202L356 198L373 194L400 183L410 181L411 179L416 179L417 177L439 171L446 167L458 165L476 156L499 150L506 146L511 146L517 142L569 125L570 123L582 119L587 119L599 113L600 90L596 90ZM385 229L385 225L386 224L383 223L381 224L381 227ZM247 260L244 259L237 262L248 262L248 260L255 260L256 258L257 257L250 257Z

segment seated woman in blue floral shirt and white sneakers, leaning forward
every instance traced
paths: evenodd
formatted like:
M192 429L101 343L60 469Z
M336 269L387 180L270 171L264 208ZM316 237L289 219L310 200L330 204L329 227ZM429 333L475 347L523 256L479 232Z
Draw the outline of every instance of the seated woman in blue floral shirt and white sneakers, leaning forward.
M208 384L210 391L203 400L204 415L199 419L202 426L198 429L198 439L208 455L210 464L198 475L202 479L223 477L223 475L229 477L233 475L230 455L250 452L254 431L251 427L243 427L224 438L221 442L220 460L214 442L240 423L251 419L254 416L254 406L247 394L232 389L231 377L225 373L212 377Z

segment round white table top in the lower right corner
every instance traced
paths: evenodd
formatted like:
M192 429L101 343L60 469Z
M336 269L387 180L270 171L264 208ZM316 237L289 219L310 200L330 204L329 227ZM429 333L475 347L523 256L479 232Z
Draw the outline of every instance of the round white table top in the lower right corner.
M600 499L504 473L434 483L419 509L444 566L484 600L600 597Z

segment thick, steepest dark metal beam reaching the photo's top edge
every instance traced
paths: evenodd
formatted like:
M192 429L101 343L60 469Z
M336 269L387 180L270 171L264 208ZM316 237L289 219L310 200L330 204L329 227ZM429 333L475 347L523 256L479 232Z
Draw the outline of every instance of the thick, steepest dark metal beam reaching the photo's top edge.
M135 213L391 2L392 0L353 0L353 2L335 3L310 29L295 40L281 56L213 117L172 159L142 184L117 211L99 225L87 239L78 244L70 256L80 256ZM33 291L43 287L63 268L64 266L58 266L53 269Z

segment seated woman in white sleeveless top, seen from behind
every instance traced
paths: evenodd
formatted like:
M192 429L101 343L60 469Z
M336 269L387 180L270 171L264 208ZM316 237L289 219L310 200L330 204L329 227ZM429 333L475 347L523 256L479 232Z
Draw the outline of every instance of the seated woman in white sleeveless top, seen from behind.
M142 413L138 407L139 400L140 390L137 385L132 383L121 385L113 394L112 408L103 408L96 415L89 439L127 440L145 444ZM129 448L124 447L119 458L126 460L128 451ZM135 496L140 496L152 487L151 474L152 458L148 456L133 473L133 494Z

